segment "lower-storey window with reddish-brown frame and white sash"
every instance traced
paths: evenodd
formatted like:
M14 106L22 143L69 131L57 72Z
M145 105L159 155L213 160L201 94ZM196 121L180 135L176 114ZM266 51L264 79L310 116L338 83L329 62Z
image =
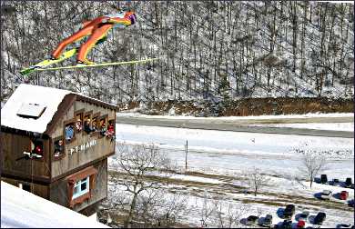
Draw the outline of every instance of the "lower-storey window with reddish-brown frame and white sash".
M96 174L97 170L94 166L89 166L67 177L68 204L70 207L74 207L75 204L81 204L92 197Z

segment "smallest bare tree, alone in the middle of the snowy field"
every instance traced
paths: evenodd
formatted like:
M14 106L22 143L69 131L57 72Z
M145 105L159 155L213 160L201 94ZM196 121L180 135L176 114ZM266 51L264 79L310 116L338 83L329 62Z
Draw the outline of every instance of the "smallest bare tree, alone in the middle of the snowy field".
M267 174L262 174L259 168L256 167L253 167L252 169L245 172L245 176L247 178L249 188L254 191L255 196L257 196L260 188L267 186L270 181Z

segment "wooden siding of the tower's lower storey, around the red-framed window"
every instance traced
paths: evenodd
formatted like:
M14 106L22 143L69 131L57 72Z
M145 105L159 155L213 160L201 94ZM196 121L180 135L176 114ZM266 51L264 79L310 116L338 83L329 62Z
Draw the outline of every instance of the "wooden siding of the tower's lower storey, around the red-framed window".
M82 204L76 204L74 206L74 211L79 212L85 209L88 205L94 204L100 200L107 197L107 159L94 164L97 170L95 177L95 188L93 190L93 195L90 199L84 201ZM50 184L50 201L61 204L68 207L68 185L67 179L60 179L52 184Z

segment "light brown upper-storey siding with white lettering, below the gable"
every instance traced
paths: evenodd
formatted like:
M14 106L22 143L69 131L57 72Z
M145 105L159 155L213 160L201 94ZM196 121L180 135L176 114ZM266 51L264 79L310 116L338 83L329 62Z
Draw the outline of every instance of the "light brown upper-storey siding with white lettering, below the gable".
M54 141L52 139L56 139L59 136L65 137L65 124L68 122L68 120L76 118L75 115L77 111L84 111L84 114L90 112L90 114L99 113L100 115L107 115L107 120L116 119L116 111L113 109L92 104L87 101L76 101L73 105L71 105L69 109L67 109L66 114L62 115L62 117L58 120L53 133L50 134L52 154L52 151L54 151ZM87 145L87 143L90 142L93 144L94 140L96 141L95 145L91 145L86 149L80 150L81 145ZM65 141L64 149L66 155L60 160L52 161L52 178L55 178L60 174L66 174L76 167L90 163L97 158L108 156L110 153L115 151L115 141L111 141L106 137L100 137L98 133L86 134L84 130L82 130L80 133L75 133L74 141L70 143L66 143ZM72 154L71 149L75 150Z

